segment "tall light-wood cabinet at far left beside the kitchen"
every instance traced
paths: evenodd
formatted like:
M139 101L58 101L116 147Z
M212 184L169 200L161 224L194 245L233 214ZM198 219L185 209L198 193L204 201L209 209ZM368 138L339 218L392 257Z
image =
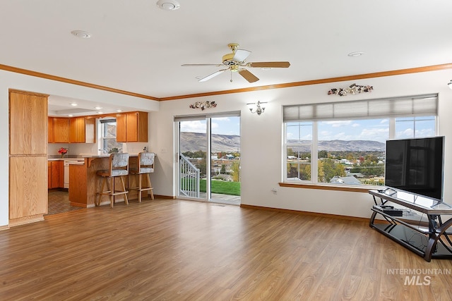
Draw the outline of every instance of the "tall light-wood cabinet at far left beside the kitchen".
M47 213L47 97L9 91L9 225Z

